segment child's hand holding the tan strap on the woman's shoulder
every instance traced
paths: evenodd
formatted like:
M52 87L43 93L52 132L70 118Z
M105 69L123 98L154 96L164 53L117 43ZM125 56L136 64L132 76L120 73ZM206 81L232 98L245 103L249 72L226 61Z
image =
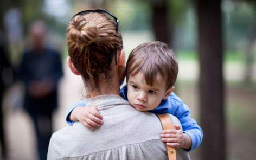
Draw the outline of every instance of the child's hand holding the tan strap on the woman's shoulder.
M168 146L173 148L189 149L191 147L191 139L181 130L180 125L174 125L175 130L163 130L160 137L162 142L166 142Z

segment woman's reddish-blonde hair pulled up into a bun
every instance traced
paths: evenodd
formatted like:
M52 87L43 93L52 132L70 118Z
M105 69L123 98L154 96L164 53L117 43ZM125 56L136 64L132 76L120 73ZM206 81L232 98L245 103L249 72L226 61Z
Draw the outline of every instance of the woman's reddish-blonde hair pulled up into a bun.
M123 49L115 21L94 12L77 15L67 27L67 45L68 54L84 80L87 93L98 89L100 80L110 82L114 49Z

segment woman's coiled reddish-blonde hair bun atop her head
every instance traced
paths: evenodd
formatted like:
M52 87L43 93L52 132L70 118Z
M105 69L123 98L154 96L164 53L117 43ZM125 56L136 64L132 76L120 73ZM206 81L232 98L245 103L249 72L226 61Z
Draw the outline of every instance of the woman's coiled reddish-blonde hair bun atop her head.
M88 46L97 40L99 30L94 23L78 15L69 22L67 34L71 41Z

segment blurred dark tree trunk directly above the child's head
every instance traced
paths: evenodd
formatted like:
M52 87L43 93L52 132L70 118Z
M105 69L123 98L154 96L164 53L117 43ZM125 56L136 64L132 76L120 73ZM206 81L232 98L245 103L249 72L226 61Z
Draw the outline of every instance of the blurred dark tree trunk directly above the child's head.
M171 44L173 27L169 23L167 0L151 1L153 8L153 29L156 40Z

